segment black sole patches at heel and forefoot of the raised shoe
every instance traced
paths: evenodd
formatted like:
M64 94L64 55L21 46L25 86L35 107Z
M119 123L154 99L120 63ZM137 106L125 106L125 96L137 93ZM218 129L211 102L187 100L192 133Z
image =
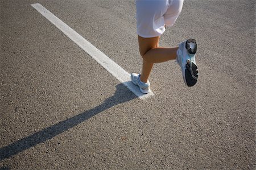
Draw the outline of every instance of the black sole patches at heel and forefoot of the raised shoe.
M189 43L194 43L195 47L191 48L189 46ZM189 54L195 55L197 50L197 44L195 39L188 39L185 47ZM191 87L196 84L198 78L198 68L195 63L192 61L187 60L186 69L185 69L185 82L187 83L187 86Z

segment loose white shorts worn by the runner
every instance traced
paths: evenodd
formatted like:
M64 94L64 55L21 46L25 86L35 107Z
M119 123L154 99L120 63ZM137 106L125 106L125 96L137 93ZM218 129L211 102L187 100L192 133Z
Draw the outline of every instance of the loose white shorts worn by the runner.
M173 26L184 0L136 0L137 34L143 38L160 36L164 26Z

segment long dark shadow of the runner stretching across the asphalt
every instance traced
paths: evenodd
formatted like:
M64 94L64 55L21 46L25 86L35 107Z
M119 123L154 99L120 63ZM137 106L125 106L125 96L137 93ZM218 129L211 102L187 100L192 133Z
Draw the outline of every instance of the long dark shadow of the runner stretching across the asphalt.
M8 146L0 148L0 160L9 158L13 155L18 154L19 152L27 150L28 148L34 147L37 144L43 143L46 140L51 139L74 126L79 125L79 123L86 121L94 115L101 113L106 109L109 109L110 107L137 98L137 96L131 93L124 85L118 84L115 87L116 90L114 95L106 99L101 105L85 111L79 115L76 115L72 118L69 118L65 121L44 128L42 131L36 132L35 134L27 136L26 138L17 140L16 142L9 144Z

